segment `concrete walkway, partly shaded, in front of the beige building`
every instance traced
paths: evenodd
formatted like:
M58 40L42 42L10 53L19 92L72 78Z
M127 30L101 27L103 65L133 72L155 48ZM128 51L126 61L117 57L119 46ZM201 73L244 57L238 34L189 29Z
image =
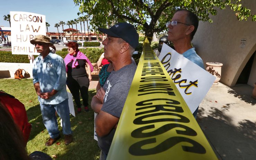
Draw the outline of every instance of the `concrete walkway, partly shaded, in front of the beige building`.
M220 160L256 160L253 87L213 85L199 106L199 126Z

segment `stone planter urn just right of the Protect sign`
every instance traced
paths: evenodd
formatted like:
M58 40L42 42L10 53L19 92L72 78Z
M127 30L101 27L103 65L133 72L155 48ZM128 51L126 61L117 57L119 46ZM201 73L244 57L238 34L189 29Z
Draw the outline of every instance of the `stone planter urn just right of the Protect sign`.
M221 76L221 66L223 66L222 63L218 62L206 62L206 71L211 73L214 77L216 77L215 81L213 82L213 85L218 84Z

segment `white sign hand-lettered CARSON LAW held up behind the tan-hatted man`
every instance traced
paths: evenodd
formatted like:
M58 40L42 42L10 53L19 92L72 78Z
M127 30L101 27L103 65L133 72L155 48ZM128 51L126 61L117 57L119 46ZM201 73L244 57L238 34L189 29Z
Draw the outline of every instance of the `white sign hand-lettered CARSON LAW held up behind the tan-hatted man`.
M36 48L30 43L36 35L46 35L45 16L30 12L10 12L12 54L34 54Z

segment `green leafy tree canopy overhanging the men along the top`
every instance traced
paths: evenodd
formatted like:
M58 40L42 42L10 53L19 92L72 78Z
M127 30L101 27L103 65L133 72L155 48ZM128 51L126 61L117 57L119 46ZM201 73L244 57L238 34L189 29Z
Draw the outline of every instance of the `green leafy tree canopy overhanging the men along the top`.
M216 15L217 8L231 8L235 11L238 20L247 20L255 14L240 4L241 0L73 0L80 6L81 13L91 15L92 30L98 27L108 28L113 23L129 22L137 30L143 30L146 36L151 37L153 32L167 30L165 23L169 21L174 11L186 8L194 12L200 20L212 22L210 14Z

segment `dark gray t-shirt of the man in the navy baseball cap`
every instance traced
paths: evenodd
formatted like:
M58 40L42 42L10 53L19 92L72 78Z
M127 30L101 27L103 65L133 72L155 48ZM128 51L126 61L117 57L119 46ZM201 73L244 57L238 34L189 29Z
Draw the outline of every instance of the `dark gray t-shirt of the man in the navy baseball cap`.
M101 108L102 111L120 118L136 68L136 64L131 63L118 71L110 73L103 86L106 93ZM112 129L108 135L98 137L98 145L106 154L108 154L115 132L116 129Z

